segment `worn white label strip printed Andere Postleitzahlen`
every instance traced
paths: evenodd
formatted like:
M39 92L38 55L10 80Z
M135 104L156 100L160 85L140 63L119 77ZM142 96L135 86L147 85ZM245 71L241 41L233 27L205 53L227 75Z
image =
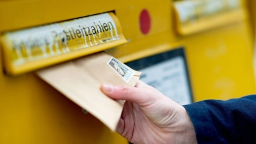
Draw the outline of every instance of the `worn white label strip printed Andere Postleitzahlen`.
M16 65L119 39L109 13L8 32L4 36L12 45L8 50Z

